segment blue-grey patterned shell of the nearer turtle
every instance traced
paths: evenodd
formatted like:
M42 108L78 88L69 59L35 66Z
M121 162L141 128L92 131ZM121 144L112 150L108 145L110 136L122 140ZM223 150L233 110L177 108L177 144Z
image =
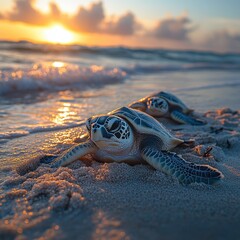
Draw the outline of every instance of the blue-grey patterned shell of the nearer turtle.
M161 123L144 112L128 107L122 107L108 114L125 119L138 133L158 137L163 143L162 150L170 150L180 143L183 143L183 140L172 136Z

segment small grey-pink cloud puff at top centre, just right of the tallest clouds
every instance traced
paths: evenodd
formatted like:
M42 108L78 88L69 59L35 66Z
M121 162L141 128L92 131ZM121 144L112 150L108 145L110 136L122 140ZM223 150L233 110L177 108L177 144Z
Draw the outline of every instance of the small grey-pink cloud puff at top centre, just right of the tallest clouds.
M133 35L139 28L141 28L141 25L131 12L105 24L105 32L116 35Z

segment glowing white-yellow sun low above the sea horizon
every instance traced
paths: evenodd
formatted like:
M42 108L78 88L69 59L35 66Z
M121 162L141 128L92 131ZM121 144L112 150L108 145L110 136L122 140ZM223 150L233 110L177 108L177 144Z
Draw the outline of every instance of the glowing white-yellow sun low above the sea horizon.
M43 35L44 40L51 43L72 43L74 40L73 33L59 24L45 29Z

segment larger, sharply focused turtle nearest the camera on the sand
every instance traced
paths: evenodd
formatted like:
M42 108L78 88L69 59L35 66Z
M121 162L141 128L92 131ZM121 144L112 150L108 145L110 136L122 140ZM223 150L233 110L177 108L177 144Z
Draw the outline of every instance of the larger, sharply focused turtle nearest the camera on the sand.
M141 111L122 107L107 115L89 118L86 127L89 139L57 157L51 163L52 167L65 166L92 154L100 162L134 164L145 161L183 184L213 184L223 177L215 168L189 163L176 153L169 152L183 141Z

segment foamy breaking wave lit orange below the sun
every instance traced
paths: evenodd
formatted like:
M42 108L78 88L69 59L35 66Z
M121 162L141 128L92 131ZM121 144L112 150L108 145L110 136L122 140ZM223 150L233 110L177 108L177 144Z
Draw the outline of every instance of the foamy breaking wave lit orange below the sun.
M118 68L82 67L62 62L38 63L27 70L0 71L0 94L86 89L119 83L125 78L126 73Z

